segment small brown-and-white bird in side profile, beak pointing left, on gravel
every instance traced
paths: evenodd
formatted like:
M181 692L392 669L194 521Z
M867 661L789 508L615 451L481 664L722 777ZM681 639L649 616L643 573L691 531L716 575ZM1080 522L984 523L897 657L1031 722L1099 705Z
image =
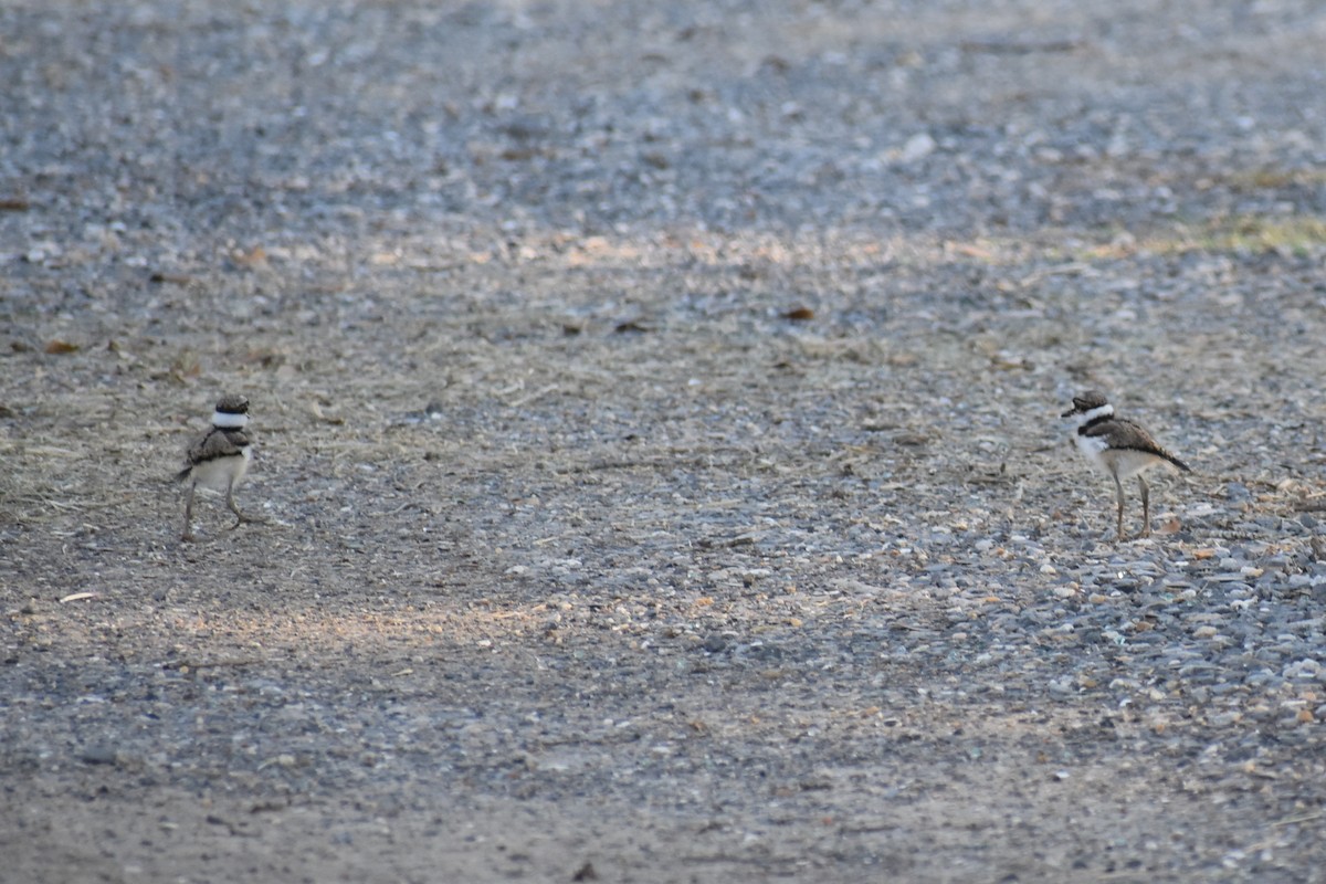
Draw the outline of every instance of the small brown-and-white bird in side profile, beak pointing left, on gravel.
M1114 477L1114 488L1119 496L1119 541L1124 539L1123 482L1134 476L1138 477L1138 485L1142 488L1142 533L1139 537L1150 537L1151 489L1147 488L1147 480L1142 474L1152 467L1167 467L1185 473L1191 473L1192 468L1160 445L1146 427L1127 417L1116 417L1114 406L1098 390L1089 390L1079 396L1073 396L1073 407L1062 416L1075 419L1077 435L1073 441L1082 456L1093 467Z

